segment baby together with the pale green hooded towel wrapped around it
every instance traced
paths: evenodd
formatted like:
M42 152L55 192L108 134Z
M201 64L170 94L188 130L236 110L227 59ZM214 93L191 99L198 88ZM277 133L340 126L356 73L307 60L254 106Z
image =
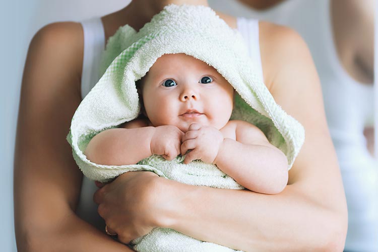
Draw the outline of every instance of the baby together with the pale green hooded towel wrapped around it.
M108 182L151 171L188 185L280 193L304 130L275 103L247 50L203 6L169 5L138 32L120 28L67 136L84 175ZM139 252L235 251L163 227L130 244Z

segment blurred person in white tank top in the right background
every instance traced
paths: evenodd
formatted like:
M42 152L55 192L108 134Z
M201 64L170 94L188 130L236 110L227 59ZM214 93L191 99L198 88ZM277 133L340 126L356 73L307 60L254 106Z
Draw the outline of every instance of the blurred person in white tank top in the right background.
M307 42L348 205L347 251L378 250L378 162L373 147L373 26L376 1L242 0L253 16L287 25ZM277 6L274 4L278 4ZM369 153L370 152L370 153Z

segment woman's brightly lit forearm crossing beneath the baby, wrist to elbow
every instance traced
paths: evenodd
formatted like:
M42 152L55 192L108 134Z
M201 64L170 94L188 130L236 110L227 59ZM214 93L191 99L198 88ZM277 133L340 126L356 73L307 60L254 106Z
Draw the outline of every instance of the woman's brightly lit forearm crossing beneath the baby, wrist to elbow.
M166 181L175 209L162 226L244 251L342 250L344 215L287 186L277 195ZM227 204L225 204L227 199Z

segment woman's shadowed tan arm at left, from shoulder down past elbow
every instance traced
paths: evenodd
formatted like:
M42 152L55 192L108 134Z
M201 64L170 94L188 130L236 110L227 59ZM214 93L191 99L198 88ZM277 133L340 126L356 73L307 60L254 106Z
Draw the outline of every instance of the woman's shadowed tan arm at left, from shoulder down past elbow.
M48 25L30 43L15 149L19 251L131 251L75 214L82 174L66 136L81 101L82 58L78 23Z

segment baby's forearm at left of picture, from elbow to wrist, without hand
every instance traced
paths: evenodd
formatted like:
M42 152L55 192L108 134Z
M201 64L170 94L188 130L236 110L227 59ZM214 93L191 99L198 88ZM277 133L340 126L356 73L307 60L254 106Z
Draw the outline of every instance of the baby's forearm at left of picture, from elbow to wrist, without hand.
M154 127L108 129L94 136L84 154L97 164L135 164L151 156Z

